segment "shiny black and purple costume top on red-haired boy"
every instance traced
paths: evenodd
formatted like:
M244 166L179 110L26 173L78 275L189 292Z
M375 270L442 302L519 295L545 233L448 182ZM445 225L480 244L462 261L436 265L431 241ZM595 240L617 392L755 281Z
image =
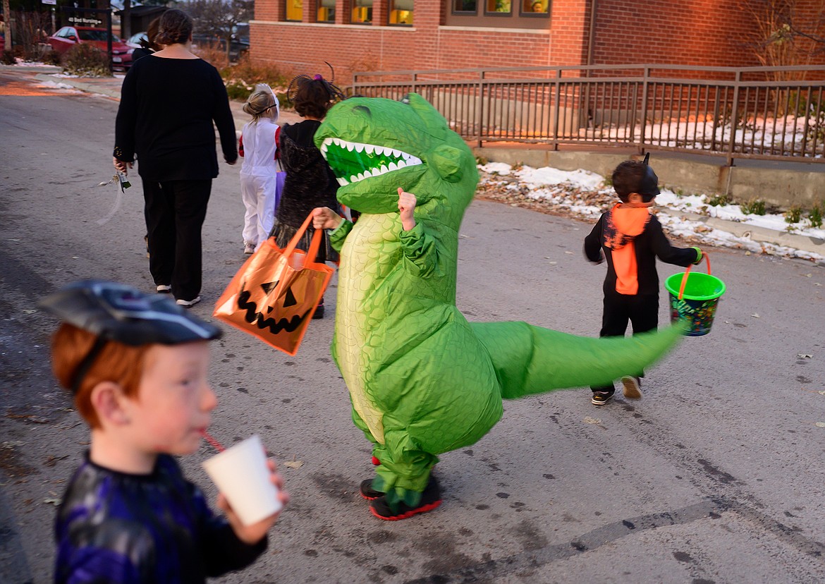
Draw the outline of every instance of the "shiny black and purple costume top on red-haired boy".
M266 549L244 544L167 454L148 475L118 473L88 454L55 521L54 582L203 584L245 568Z

